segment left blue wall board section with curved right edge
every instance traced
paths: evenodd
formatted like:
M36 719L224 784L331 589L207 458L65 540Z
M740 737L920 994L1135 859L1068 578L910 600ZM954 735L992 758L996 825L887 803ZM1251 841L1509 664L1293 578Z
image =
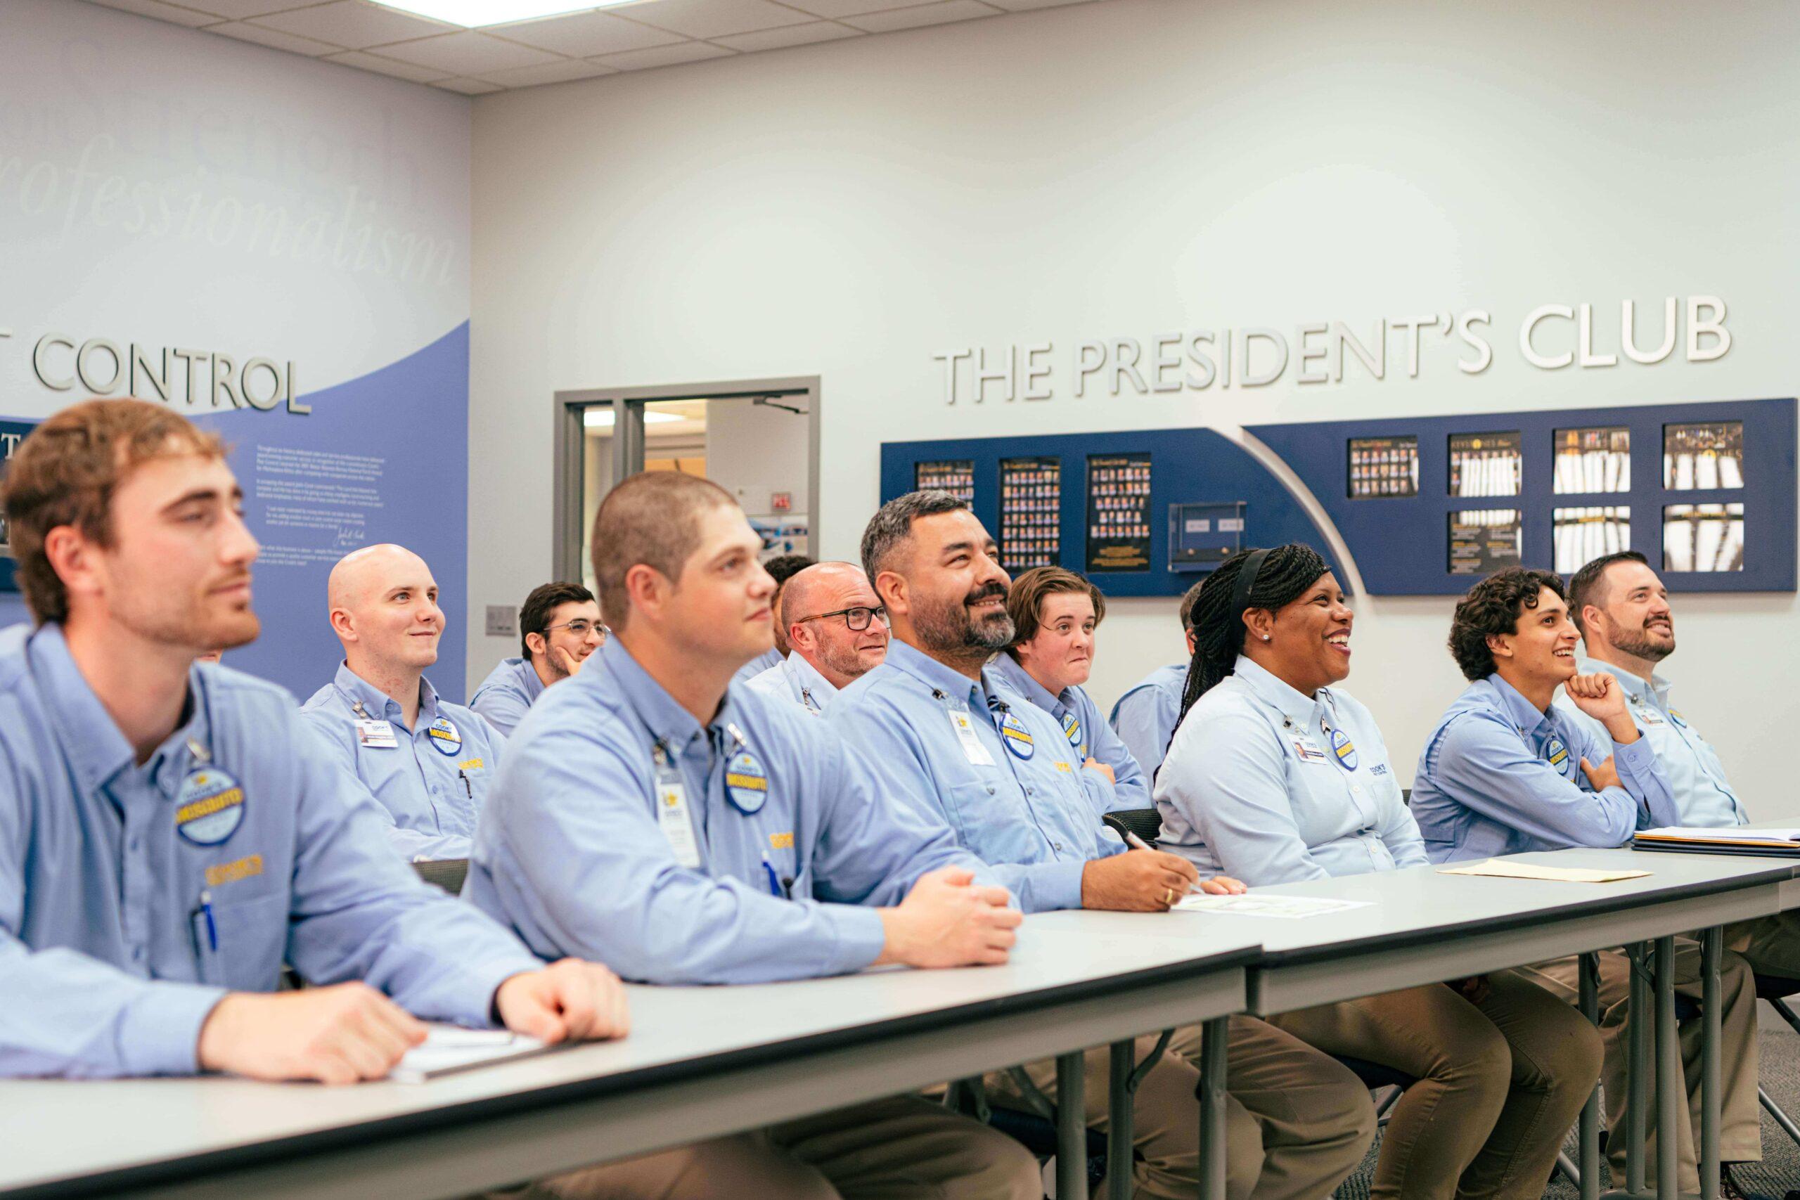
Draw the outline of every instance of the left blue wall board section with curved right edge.
M1138 434L1060 434L1042 437L972 437L882 444L882 500L913 491L918 464L974 464L974 511L995 536L1001 524L1001 459L1062 459L1057 561L1091 574L1107 596L1181 596L1202 578L1168 569L1170 504L1244 504L1244 545L1307 542L1327 551L1325 534L1282 482L1242 446L1213 430L1148 430ZM1087 567L1087 459L1150 457L1147 511L1148 565L1141 570ZM929 468L927 468L929 475ZM1327 558L1330 554L1327 552ZM1120 561L1130 561L1121 558Z

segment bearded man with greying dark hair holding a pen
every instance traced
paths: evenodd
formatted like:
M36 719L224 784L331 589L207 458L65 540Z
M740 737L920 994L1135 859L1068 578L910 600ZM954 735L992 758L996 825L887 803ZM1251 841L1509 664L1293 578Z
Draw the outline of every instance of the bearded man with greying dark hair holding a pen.
M839 693L826 720L862 750L896 802L949 822L1026 912L1161 912L1195 887L1183 858L1127 849L1100 824L1082 761L1057 720L1003 691L988 658L1013 637L1010 579L994 540L947 491L889 500L862 534L862 567L887 608L887 660ZM1008 702L1012 696L1013 702ZM1206 891L1242 891L1208 880ZM1139 1056L1156 1038L1141 1038ZM1199 1182L1201 1029L1177 1029L1136 1092L1138 1196L1192 1196ZM1055 1063L1030 1063L1055 1094ZM997 1103L1028 1106L1010 1072ZM1368 1090L1345 1067L1273 1025L1231 1018L1226 1193L1233 1200L1323 1196L1373 1135ZM1087 1060L1089 1126L1107 1124L1107 1051Z

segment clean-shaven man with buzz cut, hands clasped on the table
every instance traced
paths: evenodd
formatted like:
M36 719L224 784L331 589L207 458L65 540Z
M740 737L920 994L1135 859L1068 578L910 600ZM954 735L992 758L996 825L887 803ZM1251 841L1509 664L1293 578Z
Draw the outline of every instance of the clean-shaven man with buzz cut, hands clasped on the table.
M540 954L603 954L644 982L1004 963L1021 918L949 829L889 802L824 721L727 689L770 644L758 547L704 479L650 471L607 495L592 554L612 637L518 725L464 896ZM1022 1146L920 1097L758 1139L823 1195L1042 1195Z

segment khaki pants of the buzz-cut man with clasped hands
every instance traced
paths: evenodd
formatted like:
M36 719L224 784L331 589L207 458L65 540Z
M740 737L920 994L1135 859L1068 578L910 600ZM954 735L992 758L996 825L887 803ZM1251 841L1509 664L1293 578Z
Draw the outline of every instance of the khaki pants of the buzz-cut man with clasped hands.
M490 1200L1042 1200L1037 1159L896 1096L754 1133L569 1171Z

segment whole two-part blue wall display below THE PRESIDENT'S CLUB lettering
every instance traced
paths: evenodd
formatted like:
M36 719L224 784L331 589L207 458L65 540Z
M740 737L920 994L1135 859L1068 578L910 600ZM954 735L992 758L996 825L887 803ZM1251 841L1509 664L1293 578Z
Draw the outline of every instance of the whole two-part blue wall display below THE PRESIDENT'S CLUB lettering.
M1694 471L1692 462L1678 462L1679 453L1670 453L1665 468L1665 450L1678 450L1683 426L1730 430L1735 439L1732 470ZM1555 567L1559 545L1555 515L1562 509L1568 524L1573 524L1577 515L1589 515L1600 522L1609 538L1615 538L1604 543L1597 540L1566 543L1564 558L1586 561L1586 556L1618 545L1642 551L1670 590L1795 590L1800 500L1796 500L1795 471L1796 414L1791 398L1462 417L1309 421L1249 426L1247 432L1262 444L1258 453L1265 450L1271 459L1280 459L1280 464L1292 470L1316 497L1348 547L1363 587L1373 596L1465 592L1478 574L1453 572L1453 515L1501 509L1519 515L1516 560L1489 554L1487 547L1472 547L1463 540L1458 549L1462 569L1485 572L1501 561ZM1480 489L1487 495L1451 495L1453 439L1460 452L1458 479L1472 470L1471 462L1483 452L1503 459L1499 464L1483 461L1483 468L1503 468L1496 473L1499 482ZM1629 450L1616 450L1625 443ZM1580 470L1562 470L1559 475L1559 448L1564 452L1562 466L1568 468L1571 455L1580 459L1582 446L1600 446L1591 450L1600 459L1611 455L1606 471L1582 475ZM956 462L963 475L972 468L976 516L988 531L997 533L1001 461L1030 455L1057 457L1060 497L1058 545L1053 561L1069 570L1085 570L1091 561L1103 561L1103 556L1089 556L1093 533L1089 457L1116 461L1121 455L1145 453L1150 457L1150 504L1145 522L1148 563L1134 570L1087 572L1109 596L1179 596L1201 578L1206 565L1188 563L1183 570L1170 569L1172 504L1242 504L1242 545L1307 542L1332 558L1325 531L1314 524L1307 507L1271 466L1213 430L886 443L882 500L911 491L922 477L922 464L923 477L931 477L932 464ZM1665 470L1678 479L1665 480ZM1733 482L1737 486L1726 486ZM1118 504L1111 497L1107 502ZM1701 529L1706 524L1703 516L1714 511L1705 506L1735 506L1741 509L1741 520L1733 525L1733 515L1728 511L1710 522L1712 529ZM1130 511L1136 520L1138 509ZM1690 565L1705 560L1715 561L1721 569L1681 569L1679 554L1665 565L1665 525L1676 534L1690 527L1699 529L1687 543ZM1721 529L1728 533L1717 533ZM1467 527L1462 533L1467 534ZM1510 538L1510 531L1507 536ZM1490 542L1498 543L1499 538ZM1735 551L1726 552L1732 545ZM1143 561L1143 556L1120 554L1116 561L1136 563ZM1723 569L1726 563L1732 569Z

